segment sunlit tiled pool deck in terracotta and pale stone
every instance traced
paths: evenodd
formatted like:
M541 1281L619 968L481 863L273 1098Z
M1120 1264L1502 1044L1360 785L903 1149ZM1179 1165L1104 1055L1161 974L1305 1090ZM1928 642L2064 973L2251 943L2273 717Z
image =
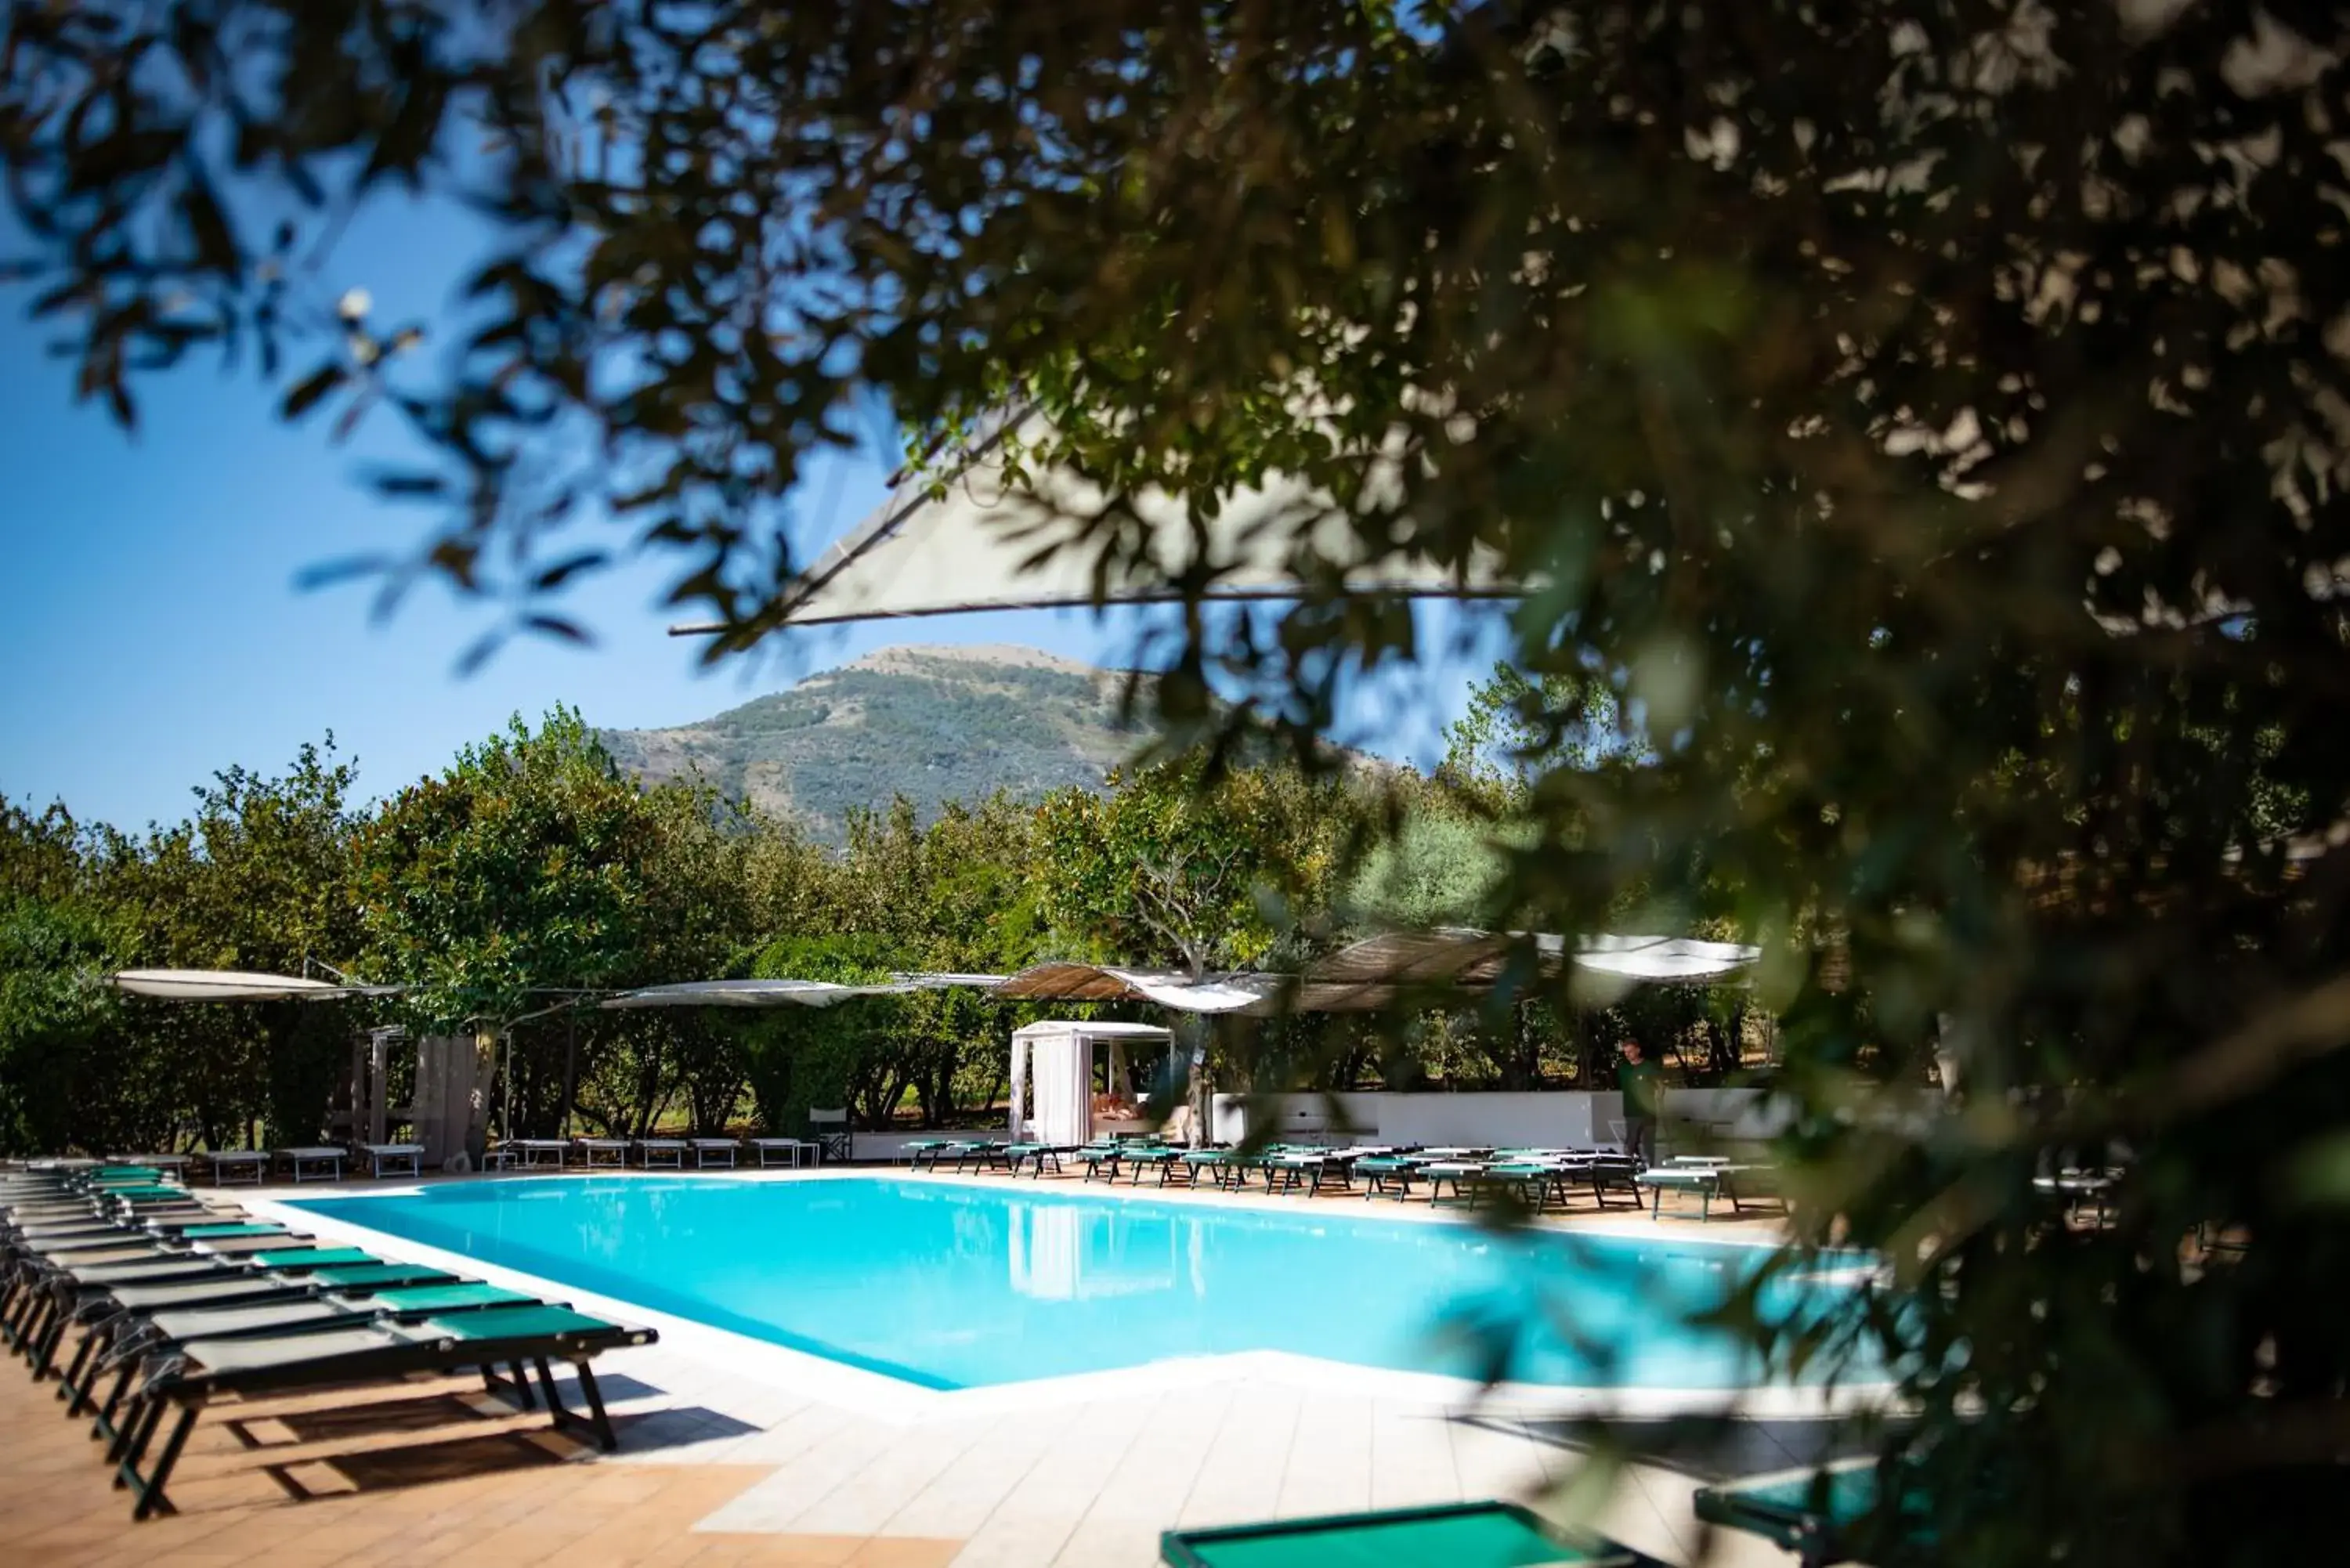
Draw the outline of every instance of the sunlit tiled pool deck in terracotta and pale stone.
M317 1192L306 1187L301 1197ZM296 1194L251 1197L266 1206ZM1191 1201L1309 1199L1203 1192ZM1344 1199L1316 1206L1335 1201ZM303 1220L320 1234L334 1229ZM1624 1213L1570 1225L1659 1229ZM1770 1220L1699 1229L1666 1218L1661 1229L1772 1237ZM428 1248L369 1241L430 1258ZM548 1291L592 1305L578 1291ZM479 1399L470 1382L240 1406L240 1420L228 1420L223 1406L200 1422L174 1479L181 1512L139 1526L127 1495L108 1488L96 1446L63 1420L54 1385L28 1382L16 1361L0 1363L0 1521L9 1556L190 1568L1144 1568L1156 1561L1159 1533L1177 1523L1495 1495L1556 1507L1584 1465L1551 1410L1506 1399L1471 1408L1459 1385L1436 1380L1227 1356L973 1392L982 1396L891 1396L879 1378L844 1375L773 1347L745 1354L747 1340L611 1309L665 1331L660 1345L597 1363L620 1427L616 1455L580 1450L548 1434L543 1418ZM1781 1432L1739 1422L1737 1467L1795 1462ZM425 1443L425 1434L435 1441ZM1744 1537L1704 1537L1690 1512L1697 1483L1661 1465L1629 1467L1596 1523L1678 1563L1791 1561Z

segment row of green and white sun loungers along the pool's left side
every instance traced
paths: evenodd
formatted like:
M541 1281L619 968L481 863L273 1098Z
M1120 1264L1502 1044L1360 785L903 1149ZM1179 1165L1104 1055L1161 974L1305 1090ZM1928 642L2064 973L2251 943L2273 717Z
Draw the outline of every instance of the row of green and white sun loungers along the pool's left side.
M172 1469L219 1399L479 1373L609 1450L590 1361L653 1331L320 1244L115 1164L0 1175L0 1340L35 1380L56 1378L68 1418L92 1420L146 1519L172 1509ZM562 1401L550 1361L576 1368L585 1410Z

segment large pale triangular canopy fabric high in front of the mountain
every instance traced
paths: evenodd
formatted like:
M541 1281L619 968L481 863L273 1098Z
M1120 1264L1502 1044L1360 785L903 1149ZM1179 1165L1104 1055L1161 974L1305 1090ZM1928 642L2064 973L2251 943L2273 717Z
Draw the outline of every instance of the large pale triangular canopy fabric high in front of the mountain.
M966 449L945 477L916 473L865 522L827 548L785 597L785 625L830 625L975 609L1147 604L1184 597L1283 599L1300 567L1337 567L1349 588L1401 597L1516 597L1490 559L1450 571L1412 555L1363 559L1354 527L1304 482L1269 477L1234 491L1194 529L1182 501L1144 491L1133 501L1140 536L1121 534L1116 559L1095 548L1053 550L1102 517L1104 494L1067 470L1022 480L1006 473L1008 437L1043 435L1041 416L1008 416ZM1386 461L1386 458L1377 458ZM1302 559L1300 559L1300 545ZM677 635L705 625L672 628Z

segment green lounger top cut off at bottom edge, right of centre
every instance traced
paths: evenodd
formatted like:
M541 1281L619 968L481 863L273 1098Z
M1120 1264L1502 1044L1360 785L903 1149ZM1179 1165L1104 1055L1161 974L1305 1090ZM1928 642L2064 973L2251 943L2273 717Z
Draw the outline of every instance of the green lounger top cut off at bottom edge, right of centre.
M1574 1535L1516 1502L1168 1530L1168 1568L1654 1568L1598 1535Z

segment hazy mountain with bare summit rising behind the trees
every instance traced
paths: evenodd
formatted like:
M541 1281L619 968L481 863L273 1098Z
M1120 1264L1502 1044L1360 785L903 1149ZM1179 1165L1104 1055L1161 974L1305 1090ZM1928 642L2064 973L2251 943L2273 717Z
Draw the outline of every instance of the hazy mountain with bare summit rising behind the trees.
M1100 788L1142 743L1119 724L1123 675L1013 646L902 646L677 729L606 729L646 778L700 776L839 844L851 806L905 795L928 818L996 790Z

